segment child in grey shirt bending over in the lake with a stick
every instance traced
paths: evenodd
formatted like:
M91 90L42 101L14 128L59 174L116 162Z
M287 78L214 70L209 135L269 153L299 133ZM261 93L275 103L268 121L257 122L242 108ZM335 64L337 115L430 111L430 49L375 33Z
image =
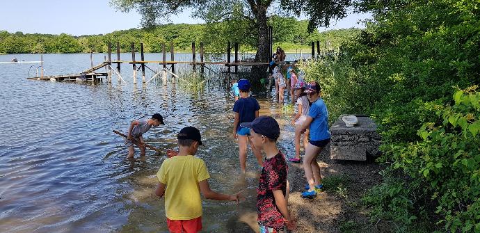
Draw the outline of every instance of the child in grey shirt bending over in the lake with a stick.
M125 145L128 147L127 158L134 158L134 145L140 148L140 156L145 156L145 140L143 140L143 134L145 134L151 127L157 127L163 123L163 118L159 113L152 115L151 119L140 119L131 122L127 132L127 139L125 139Z

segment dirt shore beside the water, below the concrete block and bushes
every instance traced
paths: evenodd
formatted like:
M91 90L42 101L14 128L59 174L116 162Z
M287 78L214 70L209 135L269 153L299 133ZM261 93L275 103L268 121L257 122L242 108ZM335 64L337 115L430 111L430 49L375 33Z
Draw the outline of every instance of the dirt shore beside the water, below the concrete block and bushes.
M321 152L320 165L325 191L312 200L301 198L306 184L302 164L289 163L289 209L297 218L293 232L388 232L382 225L369 222L362 207L364 193L381 182L382 166L374 162L333 161L330 148ZM256 212L243 213L237 223L230 223L231 232L257 232Z

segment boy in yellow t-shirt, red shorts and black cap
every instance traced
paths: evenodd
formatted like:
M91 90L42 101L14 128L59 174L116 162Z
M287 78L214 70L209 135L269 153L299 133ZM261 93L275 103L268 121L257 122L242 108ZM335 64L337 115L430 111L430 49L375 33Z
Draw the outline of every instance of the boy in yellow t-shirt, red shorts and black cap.
M211 191L210 178L205 162L195 153L202 144L200 131L184 127L178 136L179 153L161 164L157 177L159 185L155 194L165 195L165 214L170 232L198 232L202 230L202 200L207 199L239 202L240 193L225 195Z

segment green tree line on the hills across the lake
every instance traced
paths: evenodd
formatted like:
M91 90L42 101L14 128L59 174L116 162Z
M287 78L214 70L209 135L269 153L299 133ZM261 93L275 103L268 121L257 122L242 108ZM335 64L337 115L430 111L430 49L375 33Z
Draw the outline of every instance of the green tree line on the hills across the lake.
M321 41L321 47L333 49L342 42L360 33L360 29L339 29L331 31L307 31L308 22L299 21L293 17L273 17L274 46L280 46L286 51L304 49L310 51L310 42ZM143 42L145 52L161 52L161 43L173 42L175 51L191 51L191 42L205 45L207 53L225 53L227 42L239 42L241 51L256 51L255 37L243 35L239 30L246 22L218 22L214 24L164 24L148 29L128 29L113 31L104 35L60 35L9 33L0 31L1 54L50 54L50 53L104 53L108 42L113 50L116 42L120 43L121 52L131 51L131 42L136 43L136 49Z

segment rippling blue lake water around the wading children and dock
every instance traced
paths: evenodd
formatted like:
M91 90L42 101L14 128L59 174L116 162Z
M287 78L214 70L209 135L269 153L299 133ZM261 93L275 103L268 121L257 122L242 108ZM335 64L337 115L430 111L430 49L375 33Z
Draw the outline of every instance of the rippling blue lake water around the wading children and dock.
M94 65L104 59L104 54L93 56ZM13 57L0 55L0 61ZM40 61L38 54L15 57ZM121 58L130 60L131 54ZM189 61L191 54L176 58ZM160 59L161 54L145 54L146 61ZM46 75L90 67L90 54L45 54L43 60ZM147 143L174 149L180 129L198 127L205 144L198 156L207 164L211 188L222 193L243 190L246 196L239 206L204 200L203 232L228 232L239 219L255 221L257 163L249 152L248 172L241 175L231 136L234 99L229 81L215 74L220 67L212 67L216 72L209 73L212 79L198 94L178 83L143 85L140 74L134 85L131 65L122 65L128 83L120 84L116 77L112 83L97 84L27 80L37 66L0 64L1 232L168 232L163 198L154 196L155 175L166 157L147 150L147 156L138 159L137 148L136 161L129 161L123 139L112 132L126 131L131 120L157 112L166 125L150 129L144 136ZM152 75L148 71L147 79ZM260 115L273 115L280 122L280 150L293 156L290 115L282 115L272 93L253 96L262 106Z

